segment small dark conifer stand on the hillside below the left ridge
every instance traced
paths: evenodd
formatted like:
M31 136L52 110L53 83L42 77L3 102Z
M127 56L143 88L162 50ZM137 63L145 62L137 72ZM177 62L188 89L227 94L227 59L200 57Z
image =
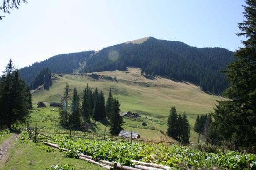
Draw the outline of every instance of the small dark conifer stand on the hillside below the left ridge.
M43 84L45 90L49 90L50 86L52 86L51 71L48 67L43 68L43 70L37 74L36 78L30 83L29 88L34 90Z

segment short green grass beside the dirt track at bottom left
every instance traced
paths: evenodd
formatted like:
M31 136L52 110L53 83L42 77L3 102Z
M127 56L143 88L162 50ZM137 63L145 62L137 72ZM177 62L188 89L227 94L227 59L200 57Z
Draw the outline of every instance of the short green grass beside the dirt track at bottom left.
M59 150L46 152L40 149L41 145L29 141L19 143L15 140L8 151L9 159L1 170L45 170L54 164L70 164L76 170L103 170L97 165L80 159L62 157Z

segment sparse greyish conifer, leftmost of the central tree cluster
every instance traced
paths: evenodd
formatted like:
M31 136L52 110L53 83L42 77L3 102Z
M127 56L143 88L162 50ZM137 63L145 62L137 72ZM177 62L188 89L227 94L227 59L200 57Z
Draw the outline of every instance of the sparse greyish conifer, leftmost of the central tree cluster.
M61 98L61 105L59 107L59 117L60 117L60 123L62 124L62 126L67 127L68 126L68 117L70 114L69 111L69 98L70 98L70 86L68 85L68 83L66 83L65 86L65 91L64 94Z

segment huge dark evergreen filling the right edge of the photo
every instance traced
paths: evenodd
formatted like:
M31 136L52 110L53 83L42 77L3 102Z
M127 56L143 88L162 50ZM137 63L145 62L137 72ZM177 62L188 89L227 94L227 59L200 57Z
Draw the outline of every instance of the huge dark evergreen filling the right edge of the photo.
M218 140L256 146L256 0L246 0L243 7L246 20L238 24L241 33L237 35L247 40L241 41L244 48L235 52L235 60L227 67L230 85L224 95L230 100L218 102L211 129L221 136Z

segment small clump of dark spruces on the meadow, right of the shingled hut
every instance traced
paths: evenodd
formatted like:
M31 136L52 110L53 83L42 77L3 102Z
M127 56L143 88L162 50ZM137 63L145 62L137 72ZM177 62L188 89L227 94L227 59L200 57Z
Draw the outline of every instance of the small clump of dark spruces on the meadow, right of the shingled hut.
M167 126L168 136L185 143L190 143L190 125L185 112L183 115L177 115L175 107L172 106Z

